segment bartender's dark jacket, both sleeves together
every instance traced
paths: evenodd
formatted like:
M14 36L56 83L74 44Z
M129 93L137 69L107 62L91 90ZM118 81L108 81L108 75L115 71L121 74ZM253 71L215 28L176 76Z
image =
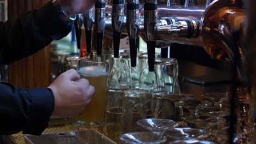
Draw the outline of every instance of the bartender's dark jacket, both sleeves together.
M51 1L38 10L0 22L0 64L8 64L43 49L71 31ZM11 75L9 75L11 77ZM49 88L24 89L0 83L0 135L22 131L40 135L54 110Z

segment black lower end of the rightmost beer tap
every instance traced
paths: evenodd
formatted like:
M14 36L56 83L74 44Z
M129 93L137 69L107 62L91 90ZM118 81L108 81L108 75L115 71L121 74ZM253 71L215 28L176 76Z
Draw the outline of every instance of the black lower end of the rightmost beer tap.
M155 41L147 41L148 70L155 70Z

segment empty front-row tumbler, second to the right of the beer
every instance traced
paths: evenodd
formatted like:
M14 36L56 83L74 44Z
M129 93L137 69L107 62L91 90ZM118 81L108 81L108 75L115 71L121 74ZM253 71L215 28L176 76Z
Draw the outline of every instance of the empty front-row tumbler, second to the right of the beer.
M122 133L141 131L136 124L139 119L147 117L145 100L148 99L146 91L141 89L128 89L123 97L123 107L121 114Z

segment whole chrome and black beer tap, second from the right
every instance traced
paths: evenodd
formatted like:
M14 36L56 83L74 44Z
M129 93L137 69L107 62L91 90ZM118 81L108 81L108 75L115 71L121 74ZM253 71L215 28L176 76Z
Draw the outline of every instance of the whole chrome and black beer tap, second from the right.
M129 36L131 66L136 67L139 32L139 1L127 0L126 9L126 27Z

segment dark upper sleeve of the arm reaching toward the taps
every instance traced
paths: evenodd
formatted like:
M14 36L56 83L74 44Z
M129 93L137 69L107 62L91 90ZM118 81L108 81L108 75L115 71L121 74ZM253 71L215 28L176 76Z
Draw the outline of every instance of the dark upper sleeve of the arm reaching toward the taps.
M0 64L8 64L43 49L71 31L72 22L50 2L18 18L0 22Z

